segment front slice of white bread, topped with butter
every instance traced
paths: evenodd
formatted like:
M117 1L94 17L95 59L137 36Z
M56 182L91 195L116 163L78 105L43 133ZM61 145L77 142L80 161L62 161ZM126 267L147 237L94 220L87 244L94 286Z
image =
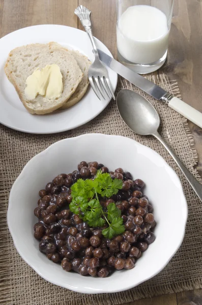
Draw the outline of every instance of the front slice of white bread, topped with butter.
M38 95L28 100L24 94L25 81L37 68L56 64L63 76L63 92L59 98L48 99ZM5 72L14 85L24 107L30 113L46 114L62 107L73 95L82 80L83 73L74 57L66 50L50 50L48 44L31 44L12 50L8 56Z

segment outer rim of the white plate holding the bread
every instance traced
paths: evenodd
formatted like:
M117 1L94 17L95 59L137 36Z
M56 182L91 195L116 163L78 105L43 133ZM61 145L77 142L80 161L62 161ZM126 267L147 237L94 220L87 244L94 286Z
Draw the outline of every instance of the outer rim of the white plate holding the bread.
M79 28L76 28L76 27L72 27L72 26L68 26L68 25L63 25L63 24L37 24L37 25L31 25L31 26L25 26L25 27L22 27L22 28L19 28L19 29L16 29L15 31L11 32L11 33L8 33L7 35L3 36L2 38L0 38L0 44L1 42L3 41L4 42L4 39L6 39L8 36L10 35L15 35L16 33L20 33L20 32L23 32L25 29L29 29L29 28L40 28L40 27L63 27L64 29L65 28L68 28L70 29L70 31L75 31L75 32L78 32L78 33L83 33L85 34L84 31L82 31L81 29ZM101 43L103 46L106 47L106 49L108 50L108 52L110 53L110 56L113 58L113 55L111 54L110 50L107 48L107 46L99 39L97 39L96 37L94 37L95 41ZM3 61L2 61L3 63ZM110 69L110 68L109 68ZM118 74L116 72L114 72L114 83L115 83L115 89L113 90L113 93L116 91L116 88L117 88L117 84L118 84ZM90 87L89 87L90 88ZM88 90L89 90L88 88ZM58 129L56 131L32 131L32 130L26 130L24 128L18 128L18 127L15 127L13 126L12 124L8 124L6 122L3 121L3 119L0 117L0 124L6 126L7 128L10 128L12 130L16 130L16 131L19 131L19 132L23 132L23 133L27 133L27 134L38 134L38 135L47 135L47 134L57 134L57 133L62 133L62 132L66 132L66 131L70 131L70 130L74 130L75 128L78 128L78 127L81 127L87 123L89 123L91 120L93 120L95 117L97 117L108 105L109 103L111 102L111 100L109 100L105 105L104 107L101 107L101 109L99 110L99 112L97 112L96 114L94 114L93 116L91 116L90 119L87 119L87 120L84 120L83 123L78 123L76 125L74 125L74 127L72 128L68 128L68 127L63 127L61 129ZM67 111L67 109L66 109ZM28 113L28 112L27 112ZM51 113L50 113L51 114ZM34 114L35 115L35 114ZM42 115L43 116L43 115Z

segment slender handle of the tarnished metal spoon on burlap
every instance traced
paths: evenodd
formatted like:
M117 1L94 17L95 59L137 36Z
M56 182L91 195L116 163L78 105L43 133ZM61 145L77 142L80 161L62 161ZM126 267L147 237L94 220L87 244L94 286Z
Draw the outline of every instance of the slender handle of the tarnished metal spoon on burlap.
M195 191L196 195L202 202L202 185L196 180L196 178L194 178L194 176L190 173L190 171L184 166L184 164L176 156L174 151L167 145L167 143L163 140L163 138L160 136L160 134L158 132L155 132L152 135L161 142L161 144L165 147L165 149L168 151L170 156L176 161L176 163L180 167L181 171L185 175L186 179L188 180L189 184L191 185L191 187Z

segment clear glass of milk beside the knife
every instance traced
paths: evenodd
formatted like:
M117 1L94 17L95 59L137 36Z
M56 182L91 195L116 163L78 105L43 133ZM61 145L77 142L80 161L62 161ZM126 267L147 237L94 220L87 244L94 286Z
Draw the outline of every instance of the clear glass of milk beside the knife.
M174 0L117 0L118 60L139 74L166 60Z

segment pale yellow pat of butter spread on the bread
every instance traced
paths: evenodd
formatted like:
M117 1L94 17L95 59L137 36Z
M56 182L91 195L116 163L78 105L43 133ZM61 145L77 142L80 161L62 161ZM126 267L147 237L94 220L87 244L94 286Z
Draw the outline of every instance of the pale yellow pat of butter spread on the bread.
M48 99L59 98L63 92L63 76L60 67L52 64L43 69L37 68L27 77L24 90L28 99L35 99L38 94Z

